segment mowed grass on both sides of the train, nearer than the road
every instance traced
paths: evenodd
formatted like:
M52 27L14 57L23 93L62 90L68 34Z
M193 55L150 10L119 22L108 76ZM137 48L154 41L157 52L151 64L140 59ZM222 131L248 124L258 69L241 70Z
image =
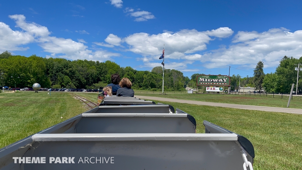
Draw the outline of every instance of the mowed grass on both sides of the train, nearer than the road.
M97 93L77 94L97 101ZM302 168L302 115L155 102L194 116L198 133L204 133L202 122L207 120L248 138L255 148L254 169ZM84 111L83 104L66 92L0 93L0 148Z

